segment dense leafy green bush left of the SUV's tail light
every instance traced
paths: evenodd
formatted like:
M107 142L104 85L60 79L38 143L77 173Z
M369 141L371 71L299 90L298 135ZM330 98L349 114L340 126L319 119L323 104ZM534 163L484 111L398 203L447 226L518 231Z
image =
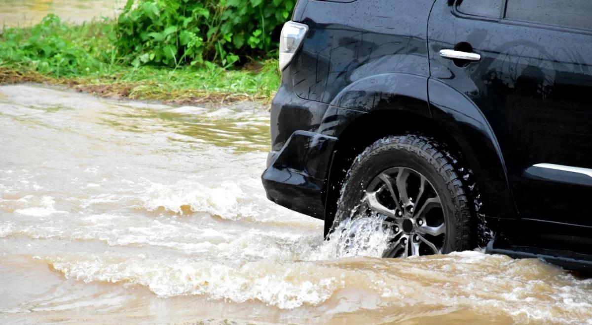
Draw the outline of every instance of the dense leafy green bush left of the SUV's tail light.
M294 0L128 0L118 18L117 47L134 66L229 67L275 56L273 35L293 8Z

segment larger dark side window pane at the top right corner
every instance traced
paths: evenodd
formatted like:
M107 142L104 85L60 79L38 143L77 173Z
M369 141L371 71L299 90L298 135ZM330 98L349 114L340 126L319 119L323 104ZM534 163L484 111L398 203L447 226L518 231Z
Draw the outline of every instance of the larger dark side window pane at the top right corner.
M508 0L506 18L592 30L592 0Z

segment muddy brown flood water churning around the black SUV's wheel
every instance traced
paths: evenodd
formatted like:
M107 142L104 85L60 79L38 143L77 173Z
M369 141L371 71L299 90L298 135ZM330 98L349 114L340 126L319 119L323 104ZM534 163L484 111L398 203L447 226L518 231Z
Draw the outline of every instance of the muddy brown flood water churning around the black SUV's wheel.
M592 323L592 280L536 259L342 254L266 200L268 123L0 87L0 323Z

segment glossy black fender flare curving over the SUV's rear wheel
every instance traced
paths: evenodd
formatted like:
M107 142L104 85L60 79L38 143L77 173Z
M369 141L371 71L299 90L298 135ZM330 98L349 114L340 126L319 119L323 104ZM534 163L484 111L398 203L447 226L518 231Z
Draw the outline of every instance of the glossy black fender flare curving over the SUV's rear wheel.
M358 80L333 99L317 132L339 138L348 125L366 113L387 110L429 118L453 139L480 193L475 198L478 213L516 217L506 164L493 129L471 99L439 80L403 73Z

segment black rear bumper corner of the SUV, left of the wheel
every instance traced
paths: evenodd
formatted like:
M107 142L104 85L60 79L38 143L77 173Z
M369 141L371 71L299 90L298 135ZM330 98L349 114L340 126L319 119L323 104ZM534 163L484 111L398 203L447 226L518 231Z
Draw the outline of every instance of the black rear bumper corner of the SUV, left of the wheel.
M337 138L295 131L268 157L263 187L269 200L288 209L324 218L324 186Z

